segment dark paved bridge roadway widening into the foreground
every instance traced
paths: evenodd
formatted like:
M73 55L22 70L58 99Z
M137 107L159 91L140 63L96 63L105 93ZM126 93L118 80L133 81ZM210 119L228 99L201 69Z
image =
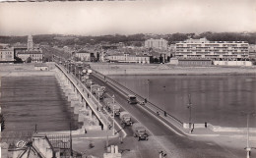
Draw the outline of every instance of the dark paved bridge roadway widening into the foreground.
M98 79L95 75L90 75L90 78L99 85L106 87L107 97L115 95L115 100L120 103L121 107L132 114L133 118L142 123L150 132L150 138L155 138L156 143L161 144L168 157L180 157L180 158L230 158L237 157L235 154L230 152L228 148L220 146L216 142L207 140L197 140L195 137L188 136L186 134L180 134L178 130L172 126L171 128L177 132L171 131L167 126L163 125L158 117L149 114L140 105L130 105L127 103L126 97L121 94L118 90L110 86L108 83ZM118 119L116 119L118 120ZM132 137L130 128L125 128L128 133L127 138ZM131 136L131 137L129 137ZM133 137L132 137L133 138ZM150 153L141 153L142 157L149 157Z

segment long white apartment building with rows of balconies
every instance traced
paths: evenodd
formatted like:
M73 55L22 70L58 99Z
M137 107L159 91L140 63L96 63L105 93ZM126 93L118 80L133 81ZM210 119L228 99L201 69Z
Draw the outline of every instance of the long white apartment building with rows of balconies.
M246 41L209 41L206 38L187 39L175 44L178 59L246 60L249 58Z

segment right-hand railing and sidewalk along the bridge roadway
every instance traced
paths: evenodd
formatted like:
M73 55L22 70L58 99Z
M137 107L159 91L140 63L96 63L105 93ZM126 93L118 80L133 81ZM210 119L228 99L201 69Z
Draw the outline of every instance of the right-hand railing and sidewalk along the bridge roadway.
M145 100L145 97L135 93L134 91L132 91L131 89L127 88L126 86L122 85L121 83L119 83L118 81L111 79L109 77L106 77L104 75L102 75L101 73L97 72L96 70L93 70L93 73L98 77L101 78L102 80L105 80L107 82L110 82L113 86L115 86L115 88L120 91L123 94L134 94L136 95L137 98L141 99L141 100ZM150 102L149 100L147 100L147 105L152 107L153 109L156 109L157 112L159 112L159 114L161 113L162 116L164 116L166 119L171 119L174 120L175 122L177 122L180 126L183 125L183 123L178 120L177 118L175 118L174 116L172 116L171 114L167 113L166 111L164 111L163 109L161 109L159 106L155 105L154 103ZM150 108L151 109L151 108Z

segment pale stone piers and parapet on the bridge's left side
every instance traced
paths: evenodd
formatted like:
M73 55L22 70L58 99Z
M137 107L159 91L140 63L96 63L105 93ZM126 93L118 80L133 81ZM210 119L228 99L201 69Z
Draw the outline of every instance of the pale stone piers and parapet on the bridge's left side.
M78 116L78 122L83 123L82 129L106 130L108 128L106 119L102 120L102 114L96 111L97 103L95 103L92 98L88 98L87 94L90 90L85 89L86 87L82 87L83 85L79 84L76 79L72 79L73 76L66 74L66 72L60 68L58 68L56 72L56 78L65 95L68 97L74 114ZM101 123L102 121L103 123Z

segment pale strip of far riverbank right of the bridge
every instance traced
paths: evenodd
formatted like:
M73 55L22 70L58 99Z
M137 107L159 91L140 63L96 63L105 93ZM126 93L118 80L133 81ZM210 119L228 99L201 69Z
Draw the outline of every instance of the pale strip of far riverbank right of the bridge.
M255 76L256 67L180 67L168 64L116 64L91 63L91 67L103 75L175 75L175 76L213 76L213 75L247 75Z

